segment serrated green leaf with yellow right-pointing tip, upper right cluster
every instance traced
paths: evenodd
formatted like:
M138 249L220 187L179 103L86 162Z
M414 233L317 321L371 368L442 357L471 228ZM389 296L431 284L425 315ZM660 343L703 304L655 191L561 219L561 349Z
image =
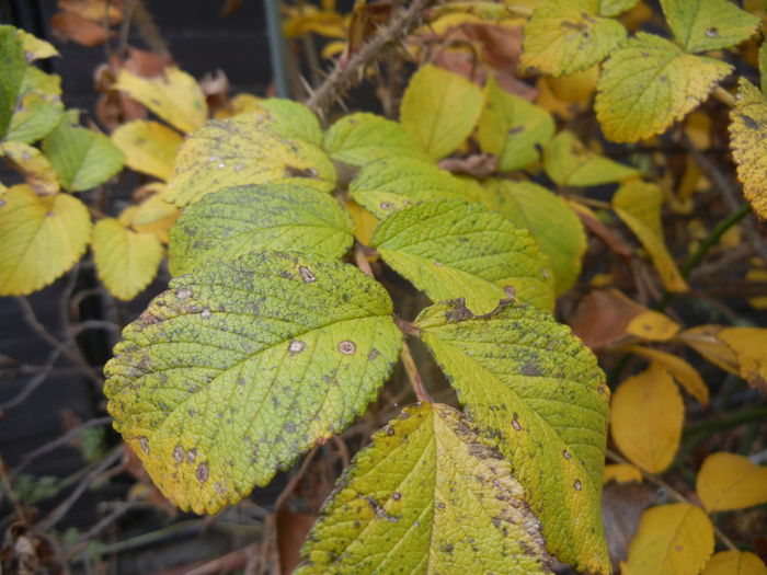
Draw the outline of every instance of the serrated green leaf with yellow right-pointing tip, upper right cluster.
M732 67L685 54L676 44L639 32L605 62L596 115L613 141L637 141L666 130L708 97Z

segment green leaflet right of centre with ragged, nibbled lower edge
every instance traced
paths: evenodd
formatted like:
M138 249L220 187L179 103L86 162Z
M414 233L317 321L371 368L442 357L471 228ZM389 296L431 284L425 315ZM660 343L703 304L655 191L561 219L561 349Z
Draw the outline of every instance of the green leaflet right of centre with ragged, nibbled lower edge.
M402 208L378 225L371 244L432 301L462 297L476 313L508 298L553 308L553 278L533 238L481 204Z

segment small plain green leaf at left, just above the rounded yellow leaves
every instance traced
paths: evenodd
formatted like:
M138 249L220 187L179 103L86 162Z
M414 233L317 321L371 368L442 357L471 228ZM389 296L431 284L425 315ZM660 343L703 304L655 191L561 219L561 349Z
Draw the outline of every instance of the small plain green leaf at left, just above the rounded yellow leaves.
M43 153L56 170L61 187L71 192L103 184L125 163L125 156L110 138L66 122L45 137Z

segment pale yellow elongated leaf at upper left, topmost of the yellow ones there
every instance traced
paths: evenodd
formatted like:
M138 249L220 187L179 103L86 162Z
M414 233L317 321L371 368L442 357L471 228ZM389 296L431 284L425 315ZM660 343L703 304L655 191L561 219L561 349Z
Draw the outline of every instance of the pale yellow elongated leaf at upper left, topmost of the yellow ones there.
M113 88L126 92L181 131L197 129L208 117L199 84L174 66L154 78L142 78L123 69Z

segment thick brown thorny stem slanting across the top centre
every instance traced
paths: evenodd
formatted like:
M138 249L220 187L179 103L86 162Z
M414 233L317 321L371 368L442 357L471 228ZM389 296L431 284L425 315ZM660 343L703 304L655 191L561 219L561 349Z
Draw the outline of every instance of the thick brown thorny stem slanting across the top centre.
M430 1L413 0L407 9L392 15L389 23L382 26L348 61L336 60L335 67L328 74L328 78L307 100L307 105L319 116L324 117L333 102L362 80L360 72L363 70L384 58L391 46L407 37L421 20L421 14Z

